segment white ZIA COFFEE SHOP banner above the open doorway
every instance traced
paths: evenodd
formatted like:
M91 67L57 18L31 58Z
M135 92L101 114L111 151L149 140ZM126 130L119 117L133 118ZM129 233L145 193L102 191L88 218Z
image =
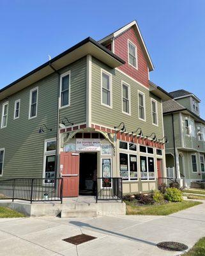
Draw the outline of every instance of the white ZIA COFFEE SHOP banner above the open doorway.
M100 151L100 139L76 139L76 151Z

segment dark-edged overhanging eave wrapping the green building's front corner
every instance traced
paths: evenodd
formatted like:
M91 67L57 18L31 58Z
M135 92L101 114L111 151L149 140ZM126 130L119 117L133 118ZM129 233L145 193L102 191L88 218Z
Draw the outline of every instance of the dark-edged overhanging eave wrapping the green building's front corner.
M40 79L54 73L54 70L50 67L50 65L52 65L52 67L54 67L56 70L60 70L61 68L66 67L76 60L79 60L87 54L95 56L95 58L98 58L112 68L125 64L125 61L119 58L119 56L109 51L109 49L96 42L93 38L87 37L78 44L73 45L73 47L70 49L62 52L61 54L52 58L50 61L45 62L40 67L35 68L25 76L20 77L13 83L2 88L0 90L0 100L9 97L13 93L19 92L27 86L36 83Z

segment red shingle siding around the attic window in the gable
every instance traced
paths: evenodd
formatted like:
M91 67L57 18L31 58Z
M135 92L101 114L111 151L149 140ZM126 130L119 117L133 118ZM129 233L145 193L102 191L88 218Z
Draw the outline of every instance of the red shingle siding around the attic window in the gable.
M128 39L137 46L138 70L128 64ZM148 64L133 28L115 38L114 53L126 61L119 69L149 88Z

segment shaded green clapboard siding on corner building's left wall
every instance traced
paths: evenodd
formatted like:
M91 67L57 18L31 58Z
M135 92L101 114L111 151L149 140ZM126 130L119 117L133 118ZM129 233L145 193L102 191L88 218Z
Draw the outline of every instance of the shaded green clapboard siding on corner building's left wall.
M86 120L86 58L76 61L61 70L71 70L71 106L61 109L61 118L66 116L71 122ZM31 120L29 116L29 93L38 86L38 114ZM8 99L8 125L0 129L0 148L5 148L3 177L35 177L43 175L43 150L45 139L56 138L58 76L52 74L38 83L11 95ZM14 102L20 99L20 118L13 120ZM2 104L0 102L0 118ZM74 111L75 109L75 111ZM46 124L52 132L39 134Z

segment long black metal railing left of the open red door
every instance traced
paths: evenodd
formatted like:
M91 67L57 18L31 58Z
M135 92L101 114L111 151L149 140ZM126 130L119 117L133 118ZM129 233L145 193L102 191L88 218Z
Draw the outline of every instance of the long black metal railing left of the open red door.
M8 179L0 180L0 200L32 202L63 202L63 179Z

